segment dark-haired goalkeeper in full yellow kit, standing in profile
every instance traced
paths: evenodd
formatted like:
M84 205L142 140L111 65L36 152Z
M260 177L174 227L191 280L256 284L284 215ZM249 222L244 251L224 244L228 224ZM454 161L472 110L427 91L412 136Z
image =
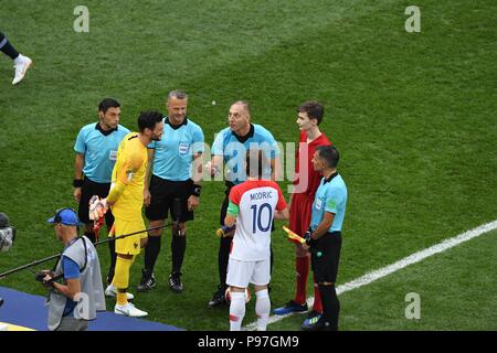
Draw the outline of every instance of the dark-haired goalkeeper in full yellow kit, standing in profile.
M160 141L163 133L162 115L141 113L138 117L139 132L128 133L119 145L114 165L110 192L106 202L115 217L114 234L123 235L145 229L141 207L147 170L147 146ZM117 288L114 312L127 317L146 317L148 313L128 302L129 269L141 247L146 246L147 233L116 240L116 270L112 286Z

